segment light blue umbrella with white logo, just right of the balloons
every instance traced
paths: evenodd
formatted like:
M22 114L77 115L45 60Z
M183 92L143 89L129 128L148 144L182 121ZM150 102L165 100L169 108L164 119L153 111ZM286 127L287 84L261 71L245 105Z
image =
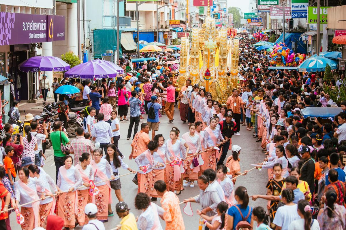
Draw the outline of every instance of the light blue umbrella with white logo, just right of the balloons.
M325 57L311 57L306 59L298 66L299 71L308 71L308 72L316 72L316 71L325 71L326 65L329 65L331 69L336 69L338 62L335 60L331 60Z

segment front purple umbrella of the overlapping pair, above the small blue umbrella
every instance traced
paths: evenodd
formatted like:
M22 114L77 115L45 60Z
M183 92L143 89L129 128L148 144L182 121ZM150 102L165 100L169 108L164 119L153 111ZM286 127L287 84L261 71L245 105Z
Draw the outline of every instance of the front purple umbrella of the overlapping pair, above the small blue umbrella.
M100 79L108 77L116 77L117 71L105 64L95 61L88 61L65 72L65 77L84 78L84 79Z

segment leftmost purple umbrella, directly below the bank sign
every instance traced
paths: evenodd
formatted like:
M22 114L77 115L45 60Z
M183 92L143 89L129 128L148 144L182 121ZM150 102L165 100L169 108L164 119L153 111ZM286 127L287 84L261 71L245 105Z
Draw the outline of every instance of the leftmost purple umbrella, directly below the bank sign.
M36 56L28 58L19 64L19 70L28 73L29 71L65 71L70 69L70 65L57 57Z

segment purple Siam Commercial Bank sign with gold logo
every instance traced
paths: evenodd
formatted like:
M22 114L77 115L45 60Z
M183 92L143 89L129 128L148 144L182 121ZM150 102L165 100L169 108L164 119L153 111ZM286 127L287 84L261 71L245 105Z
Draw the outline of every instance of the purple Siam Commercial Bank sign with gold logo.
M65 18L0 12L0 45L65 40Z

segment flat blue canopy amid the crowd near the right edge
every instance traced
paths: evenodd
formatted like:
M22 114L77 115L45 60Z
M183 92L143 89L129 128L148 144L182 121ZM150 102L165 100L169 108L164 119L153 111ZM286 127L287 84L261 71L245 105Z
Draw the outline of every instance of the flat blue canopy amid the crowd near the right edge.
M334 116L342 111L341 107L306 107L300 112L305 119L308 117L320 117L322 119L331 117L334 119Z

